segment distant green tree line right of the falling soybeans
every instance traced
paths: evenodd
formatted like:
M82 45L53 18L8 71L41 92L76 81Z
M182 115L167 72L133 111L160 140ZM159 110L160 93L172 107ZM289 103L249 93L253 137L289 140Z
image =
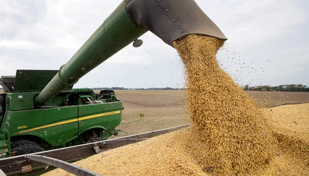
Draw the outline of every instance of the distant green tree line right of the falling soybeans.
M243 90L255 90L255 91L290 91L290 92L309 92L309 87L302 84L287 84L287 85L279 85L279 86L253 86L250 87L246 85L243 87Z

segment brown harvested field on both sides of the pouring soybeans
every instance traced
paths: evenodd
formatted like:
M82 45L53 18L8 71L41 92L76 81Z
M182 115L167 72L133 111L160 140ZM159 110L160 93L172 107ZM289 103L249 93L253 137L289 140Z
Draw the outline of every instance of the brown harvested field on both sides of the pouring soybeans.
M99 90L95 90L95 92L99 93ZM271 107L275 107L277 104L280 106L283 103L308 103L307 99L309 99L308 92L246 92L250 96L258 98L257 103L263 101L264 98L268 99L267 101ZM189 123L187 115L184 113L184 107L178 104L180 103L180 98L184 97L183 91L116 90L116 96L123 101L123 106L125 107L122 115L123 123L139 119L139 114L145 113L145 117L141 121L118 126L121 130L130 134L138 134Z

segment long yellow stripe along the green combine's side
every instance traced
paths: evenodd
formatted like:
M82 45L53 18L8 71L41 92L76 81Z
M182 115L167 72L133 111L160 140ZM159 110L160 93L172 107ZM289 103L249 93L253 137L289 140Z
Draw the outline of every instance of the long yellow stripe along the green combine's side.
M44 126L37 127L37 128L24 130L24 131L19 132L18 134L24 133L24 132L30 132L30 131L33 131L33 130L39 130L39 129L42 129L42 128L48 128L48 127L53 127L53 126L57 126L57 125L68 124L68 123L71 123L71 122L77 122L77 121L81 121L81 120L87 120L87 119L92 119L92 118L102 117L102 116L107 116L107 115L114 115L114 114L120 114L120 111L106 112L106 113L102 113L102 114L96 114L96 115L90 115L90 116L82 117L82 118L79 118L79 119L72 119L72 120L66 120L66 121L63 121L63 122L57 122L57 123L54 123L54 124L49 124L49 125L44 125Z

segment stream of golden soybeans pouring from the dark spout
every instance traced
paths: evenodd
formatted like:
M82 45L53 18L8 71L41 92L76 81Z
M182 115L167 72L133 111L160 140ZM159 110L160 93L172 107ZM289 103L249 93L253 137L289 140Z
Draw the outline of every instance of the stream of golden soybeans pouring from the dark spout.
M219 67L223 43L189 35L173 44L185 65L186 109L198 140L210 145L218 173L243 175L268 162L277 141L252 98Z

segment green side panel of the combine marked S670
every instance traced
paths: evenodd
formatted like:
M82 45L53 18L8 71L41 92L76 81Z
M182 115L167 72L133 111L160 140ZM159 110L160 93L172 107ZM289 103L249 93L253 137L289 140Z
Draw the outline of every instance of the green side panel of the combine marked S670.
M53 146L75 138L78 132L77 106L12 111L10 118L11 136L38 136Z

